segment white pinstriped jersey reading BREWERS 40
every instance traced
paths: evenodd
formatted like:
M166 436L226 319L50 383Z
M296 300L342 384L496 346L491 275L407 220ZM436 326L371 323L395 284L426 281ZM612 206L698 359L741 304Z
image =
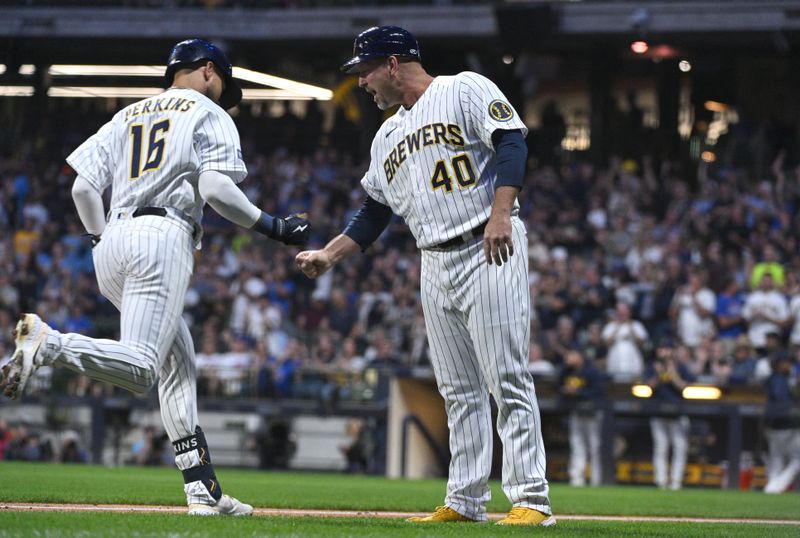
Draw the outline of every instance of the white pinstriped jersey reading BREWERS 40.
M411 109L383 123L361 183L405 219L419 248L442 243L489 218L496 129L527 133L492 81L472 72L436 77Z

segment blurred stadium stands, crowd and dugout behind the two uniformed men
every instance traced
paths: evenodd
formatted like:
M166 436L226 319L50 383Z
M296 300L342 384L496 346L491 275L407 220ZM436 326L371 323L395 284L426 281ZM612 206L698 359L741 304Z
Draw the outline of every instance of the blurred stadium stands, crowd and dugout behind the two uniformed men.
M652 482L648 419L664 407L632 387L664 344L695 383L721 389L717 400L672 409L692 417L685 484L761 488L764 381L782 354L795 380L800 373L796 311L770 347L748 339L747 320L721 321L765 272L787 310L800 300L800 3L464 4L3 2L0 357L13 351L21 311L62 331L117 334L64 157L131 95L158 88L160 71L104 75L87 66L160 66L174 42L202 36L249 73L281 77L251 75L231 111L250 172L242 188L270 213L308 211L319 246L359 206L382 120L337 67L356 33L398 24L417 35L431 73L489 76L530 127L520 204L550 478L566 478L569 407L558 379L564 352L579 347L607 377L605 481ZM427 357L419 254L403 223L319 282L294 269L295 250L211 210L203 224L185 317L215 459L442 475L446 431ZM691 268L715 297L700 335L670 309ZM619 350L602 337L618 303L647 331L623 363L633 366L609 360ZM46 368L30 389L21 403L0 402L0 459L170 464L154 398ZM415 410L415 400L430 405Z

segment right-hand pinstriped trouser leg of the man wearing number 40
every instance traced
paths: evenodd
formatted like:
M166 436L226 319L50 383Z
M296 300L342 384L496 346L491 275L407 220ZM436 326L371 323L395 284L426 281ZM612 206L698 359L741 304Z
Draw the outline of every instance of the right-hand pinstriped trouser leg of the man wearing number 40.
M465 304L484 382L497 404L503 442L503 491L515 507L550 515L539 405L528 370L530 291L525 226L511 219L514 255L489 265L478 242L471 252ZM552 523L555 520L552 520ZM550 521L543 524L552 524Z

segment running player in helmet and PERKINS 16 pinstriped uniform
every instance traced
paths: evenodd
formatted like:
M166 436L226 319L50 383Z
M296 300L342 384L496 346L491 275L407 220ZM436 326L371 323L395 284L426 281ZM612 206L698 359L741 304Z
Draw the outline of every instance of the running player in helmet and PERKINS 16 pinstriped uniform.
M178 43L166 69L169 88L129 105L84 142L67 162L78 215L93 239L100 291L121 313L120 340L62 334L24 314L16 350L0 387L18 398L40 366L63 366L146 393L158 381L161 417L183 472L192 515L249 515L253 508L222 494L198 426L195 354L181 318L200 246L202 208L281 241L302 245L308 221L274 218L236 187L247 175L239 133L226 109L242 91L232 66L212 43ZM102 193L112 186L108 217Z

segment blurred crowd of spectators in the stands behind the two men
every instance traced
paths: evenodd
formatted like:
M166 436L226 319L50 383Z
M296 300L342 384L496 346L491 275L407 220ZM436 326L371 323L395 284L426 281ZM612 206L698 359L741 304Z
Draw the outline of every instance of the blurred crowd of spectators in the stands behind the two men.
M342 151L347 137L303 121L240 121L249 167L242 187L272 214L309 212L313 247L359 207L365 163ZM118 328L97 291L91 245L69 198L74 172L61 156L82 134L34 134L0 161L0 356L13 350L20 311L39 312L61 331L114 337ZM737 134L730 143L742 145ZM641 145L619 148L629 154L606 166L561 160L537 147L545 135L529 137L520 194L535 307L532 371L554 376L580 348L608 377L636 381L665 344L694 377L719 385L763 382L787 354L797 374L800 248L789 232L800 224L800 168L788 166L785 151L767 147L771 174L753 177L743 166L700 164L694 173L675 160L657 164ZM201 394L368 399L376 386L364 381L365 369L427 364L419 253L399 219L363 256L317 282L295 270L295 249L210 209L203 226L185 308ZM108 390L43 370L40 388Z

